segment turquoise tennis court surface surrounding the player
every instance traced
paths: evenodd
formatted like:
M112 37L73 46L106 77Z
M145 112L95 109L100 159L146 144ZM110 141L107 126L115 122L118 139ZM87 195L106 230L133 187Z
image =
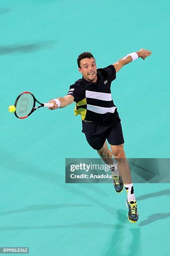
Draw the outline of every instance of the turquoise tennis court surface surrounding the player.
M153 51L117 73L112 96L128 158L170 157L169 1L0 1L0 246L30 256L169 255L170 184L134 184L140 218L112 184L65 184L65 158L95 158L74 105L19 120L23 91L41 102L67 94L90 51L106 67Z

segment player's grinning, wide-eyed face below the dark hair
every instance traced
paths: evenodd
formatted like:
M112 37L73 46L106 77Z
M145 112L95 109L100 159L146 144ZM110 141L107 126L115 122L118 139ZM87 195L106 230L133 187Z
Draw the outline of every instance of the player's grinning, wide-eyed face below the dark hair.
M78 70L87 81L93 83L97 82L97 67L94 58L82 59Z

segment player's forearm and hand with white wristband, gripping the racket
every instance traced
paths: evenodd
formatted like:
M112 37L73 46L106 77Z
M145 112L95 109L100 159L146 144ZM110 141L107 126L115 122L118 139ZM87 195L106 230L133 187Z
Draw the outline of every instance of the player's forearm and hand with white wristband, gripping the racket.
M65 108L67 105L70 105L74 102L74 97L72 95L66 95L65 97L59 97L55 100L50 100L48 103L52 103L54 106L48 108L54 110L56 108Z

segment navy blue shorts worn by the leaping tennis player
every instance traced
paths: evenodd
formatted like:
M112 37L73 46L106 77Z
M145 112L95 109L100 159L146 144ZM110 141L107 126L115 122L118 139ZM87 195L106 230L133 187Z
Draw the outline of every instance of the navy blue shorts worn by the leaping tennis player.
M96 150L102 148L106 139L110 145L121 145L124 143L122 125L120 118L117 117L108 125L82 121L82 132L85 133L89 145Z

